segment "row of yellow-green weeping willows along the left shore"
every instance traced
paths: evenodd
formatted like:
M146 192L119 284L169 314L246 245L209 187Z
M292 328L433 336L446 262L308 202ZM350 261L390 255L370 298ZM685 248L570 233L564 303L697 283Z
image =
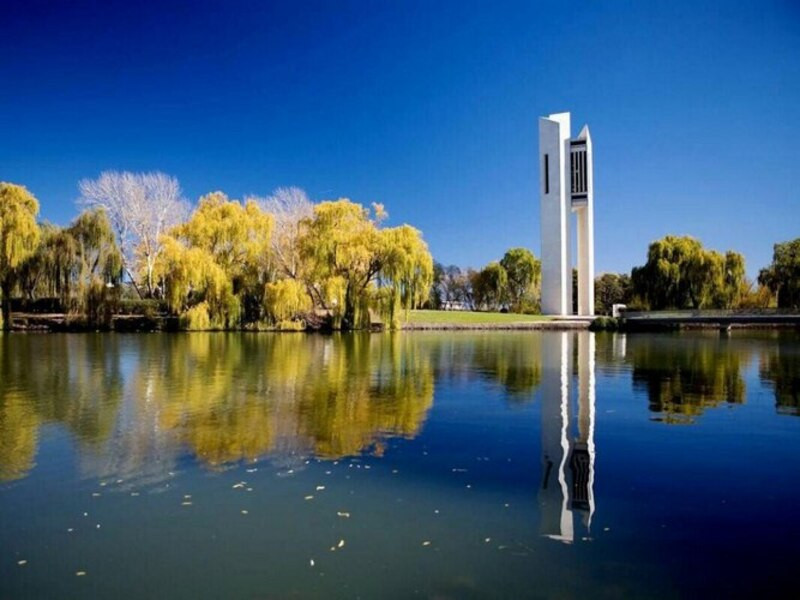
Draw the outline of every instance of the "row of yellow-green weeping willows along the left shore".
M97 192L127 206L141 187L138 180L106 175L84 182L84 196ZM110 322L124 273L134 287L147 282L148 296L163 300L188 329L302 329L312 320L356 329L369 327L376 312L398 327L432 285L433 261L422 234L408 225L381 227L387 215L379 204L366 208L340 199L313 205L297 189L246 202L213 192L153 241L152 232L125 233L119 206L106 208L99 200L88 202L91 208L69 227L39 228L33 196L2 185L5 313L13 288L31 301L59 300L64 312L90 325ZM158 222L176 220L165 219Z

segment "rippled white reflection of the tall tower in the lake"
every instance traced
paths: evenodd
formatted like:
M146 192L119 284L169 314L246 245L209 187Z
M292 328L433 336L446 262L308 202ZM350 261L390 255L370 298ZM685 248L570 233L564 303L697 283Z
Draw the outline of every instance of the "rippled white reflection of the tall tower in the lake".
M542 344L541 533L570 544L594 514L595 338L562 332Z

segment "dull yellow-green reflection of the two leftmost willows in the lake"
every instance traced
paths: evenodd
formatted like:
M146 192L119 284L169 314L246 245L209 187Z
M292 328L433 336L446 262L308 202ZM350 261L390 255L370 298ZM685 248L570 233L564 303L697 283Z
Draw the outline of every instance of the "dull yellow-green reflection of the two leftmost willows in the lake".
M0 338L0 480L33 467L39 428L61 423L81 449L111 434L122 400L112 336Z

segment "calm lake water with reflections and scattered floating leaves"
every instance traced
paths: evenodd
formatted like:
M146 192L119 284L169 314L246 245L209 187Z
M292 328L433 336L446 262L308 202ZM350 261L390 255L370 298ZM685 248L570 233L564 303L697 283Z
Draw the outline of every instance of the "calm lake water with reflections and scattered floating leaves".
M791 591L799 412L788 333L0 336L0 597Z

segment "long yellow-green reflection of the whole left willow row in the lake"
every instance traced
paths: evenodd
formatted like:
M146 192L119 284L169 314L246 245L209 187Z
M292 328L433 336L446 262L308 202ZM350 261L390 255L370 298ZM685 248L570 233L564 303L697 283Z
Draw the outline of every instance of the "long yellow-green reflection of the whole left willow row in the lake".
M153 462L168 471L181 447L212 467L282 450L380 452L386 437L416 435L433 403L433 370L411 336L127 338L126 381L119 339L3 338L0 478L33 467L48 422L77 438L84 471L127 477Z

